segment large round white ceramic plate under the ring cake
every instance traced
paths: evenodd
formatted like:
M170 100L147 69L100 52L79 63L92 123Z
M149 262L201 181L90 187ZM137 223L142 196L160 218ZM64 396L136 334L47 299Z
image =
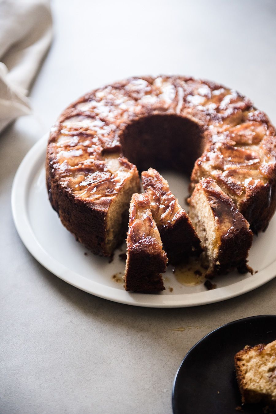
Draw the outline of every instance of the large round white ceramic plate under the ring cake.
M233 298L261 286L276 275L274 216L266 232L254 237L250 250L249 265L258 270L257 273L242 275L231 272L214 280L217 289L207 291L203 284L188 287L178 283L172 267L169 266L164 275L164 284L167 288L164 292L126 292L121 278L113 277L114 274L124 273L125 263L119 258L119 254L125 251L125 247L117 250L114 260L108 263L107 258L95 256L77 243L52 209L45 186L47 138L48 134L33 146L18 168L12 188L12 212L19 236L29 252L65 282L115 302L155 308L176 308ZM169 181L172 192L184 206L183 200L188 195L188 178L166 172L164 176Z

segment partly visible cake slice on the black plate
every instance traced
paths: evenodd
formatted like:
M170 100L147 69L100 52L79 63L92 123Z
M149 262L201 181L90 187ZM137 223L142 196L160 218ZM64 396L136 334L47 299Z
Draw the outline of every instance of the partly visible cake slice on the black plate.
M242 402L262 401L276 409L276 340L247 345L235 355L235 367Z

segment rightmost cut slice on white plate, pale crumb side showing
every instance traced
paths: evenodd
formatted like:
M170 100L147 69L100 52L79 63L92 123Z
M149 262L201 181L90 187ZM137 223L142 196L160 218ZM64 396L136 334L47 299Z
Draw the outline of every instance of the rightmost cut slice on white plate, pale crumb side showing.
M252 231L236 205L212 178L195 185L189 199L189 215L200 238L206 277L238 267L246 271Z

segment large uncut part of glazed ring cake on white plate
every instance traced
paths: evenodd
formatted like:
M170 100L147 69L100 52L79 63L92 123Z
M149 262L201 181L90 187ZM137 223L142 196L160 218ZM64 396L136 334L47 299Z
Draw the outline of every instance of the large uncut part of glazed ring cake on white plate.
M140 190L137 168L192 171L191 192L213 178L257 233L276 206L275 155L274 127L237 91L190 77L130 78L86 94L53 126L49 198L77 239L110 255Z

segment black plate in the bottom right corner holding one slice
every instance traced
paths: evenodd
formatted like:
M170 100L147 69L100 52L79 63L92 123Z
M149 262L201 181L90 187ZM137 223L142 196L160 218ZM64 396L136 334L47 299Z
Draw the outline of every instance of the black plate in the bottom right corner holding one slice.
M276 339L276 315L259 315L227 323L190 349L174 380L174 414L237 414L241 405L234 355L245 345ZM257 404L245 404L243 414L260 414Z

